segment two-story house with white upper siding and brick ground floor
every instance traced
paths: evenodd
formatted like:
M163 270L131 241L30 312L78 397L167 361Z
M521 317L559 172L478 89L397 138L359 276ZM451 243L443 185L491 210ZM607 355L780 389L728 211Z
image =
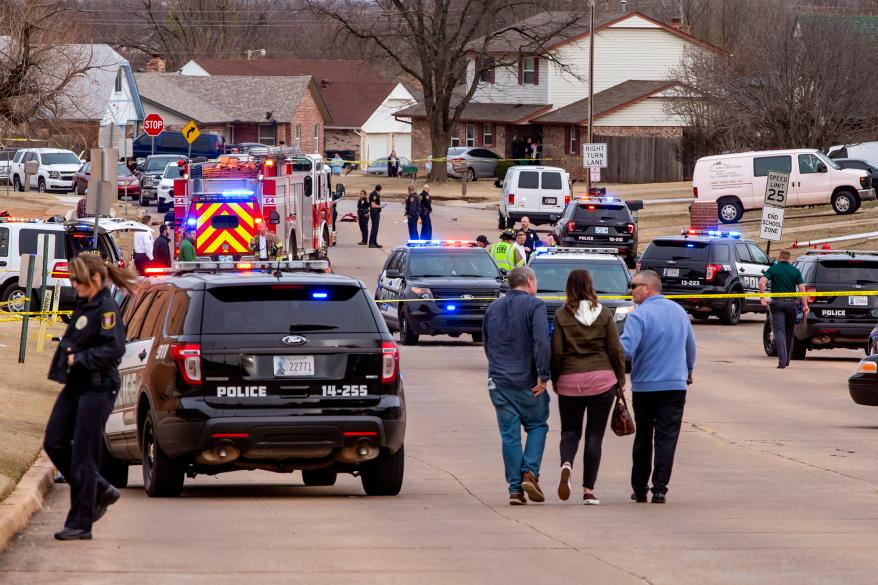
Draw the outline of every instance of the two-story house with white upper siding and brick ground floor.
M559 17L543 13L524 21L522 28ZM581 171L581 144L588 133L588 28L551 39L540 55L519 57L520 44L512 33L491 40L486 61L477 64L473 55L467 87L475 75L478 87L461 115L452 146L485 146L501 157L517 158L521 145L530 139L542 146L546 164ZM674 70L689 51L704 50L721 51L686 32L678 20L668 24L639 12L598 19L594 134L681 136L684 122L665 107L668 100L681 99L675 91ZM412 156L425 158L430 154L430 136L423 105L397 115L412 119Z

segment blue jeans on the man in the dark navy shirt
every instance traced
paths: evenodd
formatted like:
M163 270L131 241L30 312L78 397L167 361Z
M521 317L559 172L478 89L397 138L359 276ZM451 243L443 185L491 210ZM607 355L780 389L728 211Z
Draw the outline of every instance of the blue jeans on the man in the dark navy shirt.
M510 390L490 388L491 403L497 411L503 449L503 466L509 493L521 493L521 476L530 471L540 476L543 449L549 432L549 393L534 396L530 388ZM527 433L521 448L521 427Z

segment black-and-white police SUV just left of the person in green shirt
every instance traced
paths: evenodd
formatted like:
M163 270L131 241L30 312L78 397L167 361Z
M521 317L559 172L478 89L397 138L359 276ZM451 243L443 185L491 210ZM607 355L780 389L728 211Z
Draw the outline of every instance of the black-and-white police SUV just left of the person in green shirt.
M743 313L764 313L759 279L771 260L759 244L738 232L683 230L680 236L654 239L637 262L638 270L654 270L665 294L753 293L744 299L675 299L696 319L719 317L735 325Z

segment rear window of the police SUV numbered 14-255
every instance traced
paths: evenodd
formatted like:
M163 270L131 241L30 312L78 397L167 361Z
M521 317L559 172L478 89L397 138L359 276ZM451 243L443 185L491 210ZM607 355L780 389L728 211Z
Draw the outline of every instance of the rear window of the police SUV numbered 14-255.
M357 286L271 283L209 288L202 333L372 333L371 301Z

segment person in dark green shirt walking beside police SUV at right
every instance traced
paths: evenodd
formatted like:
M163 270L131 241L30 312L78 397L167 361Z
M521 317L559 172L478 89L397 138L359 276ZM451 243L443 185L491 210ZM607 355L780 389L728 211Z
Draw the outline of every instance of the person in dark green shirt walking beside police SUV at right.
M802 273L799 269L790 264L789 250L781 250L778 254L778 260L771 265L771 268L764 272L764 276L759 279L759 294L765 294L765 287L771 282L771 292L773 293L792 293L805 292L805 281L802 279ZM808 308L808 298L800 297L802 302L802 313L807 319L810 309ZM779 297L775 299L761 299L762 306L769 308L769 319L771 319L771 330L774 333L774 346L777 348L777 367L785 368L790 365L790 352L793 349L793 327L796 325L796 308L798 302L792 297Z

